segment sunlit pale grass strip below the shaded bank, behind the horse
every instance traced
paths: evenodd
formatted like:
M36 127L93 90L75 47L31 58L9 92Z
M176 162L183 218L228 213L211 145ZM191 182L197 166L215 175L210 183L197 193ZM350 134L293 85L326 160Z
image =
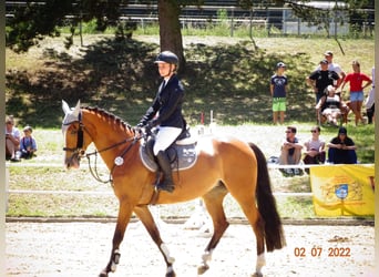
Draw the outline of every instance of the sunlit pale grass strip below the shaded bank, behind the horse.
M243 126L216 126L214 132L233 133L244 141L256 142L266 156L278 154L284 126L252 125ZM335 131L335 130L334 130ZM19 164L10 164L10 188L25 191L72 191L94 192L94 195L65 195L65 194L11 194L9 196L8 216L58 216L58 217L94 217L116 216L117 201L113 195L110 184L96 182L90 174L88 163L84 160L78 171L65 171L62 165L62 134L59 130L34 130L35 137L40 142L38 156L22 161ZM322 137L329 140L335 134L322 133ZM263 141L262 136L265 140ZM299 125L299 137L308 137L307 124ZM43 143L47 142L44 146ZM41 146L43 145L43 146ZM40 166L40 164L49 164ZM35 166L31 166L35 164ZM103 179L107 178L107 171L101 170ZM270 170L273 189L276 193L311 192L309 176L283 177L281 173ZM58 182L59 181L59 182ZM101 195L99 195L99 193ZM284 218L316 218L313 203L309 197L277 196L278 209ZM196 208L196 201L185 204L162 206L161 214L164 217L187 217ZM225 208L228 216L244 217L238 205L227 197Z

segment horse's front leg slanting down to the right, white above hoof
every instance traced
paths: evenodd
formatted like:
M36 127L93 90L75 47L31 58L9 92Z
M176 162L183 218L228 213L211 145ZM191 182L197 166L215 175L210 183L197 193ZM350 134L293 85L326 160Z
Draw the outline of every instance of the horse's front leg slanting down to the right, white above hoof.
M173 268L173 264L175 259L170 256L170 252L167 246L163 243L161 238L161 234L158 228L156 227L156 224L154 222L154 218L152 216L152 213L150 212L148 207L146 205L143 206L136 206L134 208L134 213L136 216L141 219L142 224L147 229L150 236L153 238L154 243L160 248L160 252L162 253L164 260L166 261L166 277L175 277L175 271Z

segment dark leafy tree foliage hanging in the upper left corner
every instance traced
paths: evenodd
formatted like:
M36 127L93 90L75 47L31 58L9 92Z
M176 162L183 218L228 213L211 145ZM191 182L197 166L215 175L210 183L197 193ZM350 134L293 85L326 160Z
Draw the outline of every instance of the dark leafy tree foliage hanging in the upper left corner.
M59 27L63 27L71 16L71 37L78 23L96 20L96 29L104 31L109 24L115 24L122 0L49 0L25 1L14 8L14 14L7 20L7 47L16 52L28 51L43 37L59 37Z

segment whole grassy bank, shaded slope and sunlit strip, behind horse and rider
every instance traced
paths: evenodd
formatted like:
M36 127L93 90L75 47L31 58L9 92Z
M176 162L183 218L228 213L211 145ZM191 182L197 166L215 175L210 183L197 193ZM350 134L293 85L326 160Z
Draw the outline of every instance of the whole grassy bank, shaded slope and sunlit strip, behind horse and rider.
M352 59L360 60L365 73L370 72L373 61L373 40L342 40L344 55L331 39L257 38L258 49L247 38L183 39L186 69L181 79L186 88L184 112L190 124L198 124L202 112L208 124L212 110L217 132L257 143L267 157L278 155L285 129L270 124L268 82L278 61L288 66L286 124L297 125L301 138L309 136L315 122L314 95L305 78L322 53L332 50L336 61L348 72ZM85 47L74 45L70 51L64 50L62 41L47 39L42 47L21 55L7 50L7 113L16 115L19 126L31 124L39 144L35 158L23 161L21 167L10 166L10 188L95 191L104 195L10 195L8 216L115 216L117 202L112 188L96 183L85 164L72 172L55 166L62 164L61 100L74 105L80 99L84 105L101 106L135 124L157 88L158 76L152 63L158 52L156 35L123 42L110 35L85 35ZM321 134L329 141L336 132L322 127ZM359 161L373 163L373 126L354 127L348 123L348 132L358 145ZM33 163L51 166L24 166ZM275 192L310 192L307 175L284 178L275 171L270 175ZM195 204L164 206L162 214L188 216ZM309 198L280 197L278 205L283 217L315 217ZM232 199L227 198L225 206L228 215L242 216Z

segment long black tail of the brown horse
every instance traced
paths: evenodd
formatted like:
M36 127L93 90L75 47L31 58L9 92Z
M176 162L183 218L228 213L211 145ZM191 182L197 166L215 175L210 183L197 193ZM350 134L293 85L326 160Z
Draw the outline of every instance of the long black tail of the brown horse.
M266 247L267 252L273 252L283 248L286 245L286 239L272 191L266 157L257 145L249 143L249 146L257 158L258 175L256 197L258 211L264 220Z

